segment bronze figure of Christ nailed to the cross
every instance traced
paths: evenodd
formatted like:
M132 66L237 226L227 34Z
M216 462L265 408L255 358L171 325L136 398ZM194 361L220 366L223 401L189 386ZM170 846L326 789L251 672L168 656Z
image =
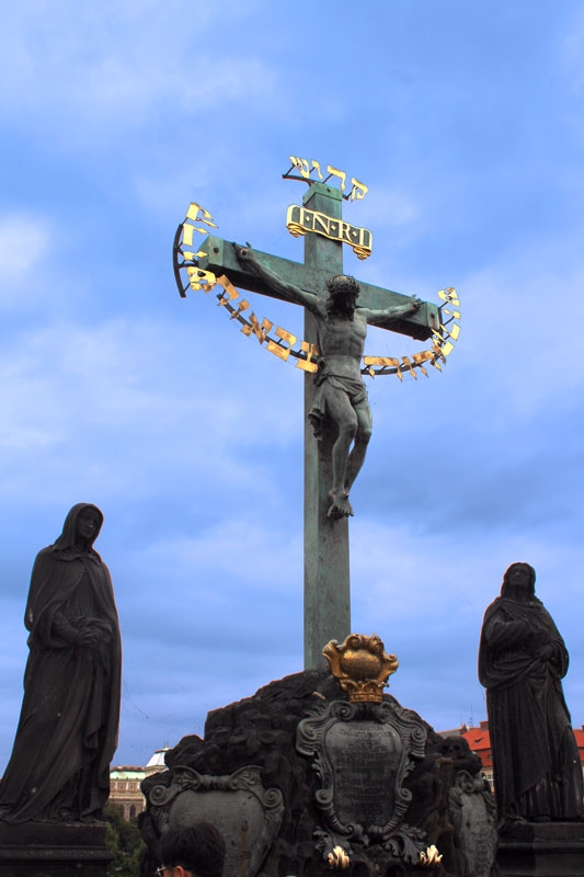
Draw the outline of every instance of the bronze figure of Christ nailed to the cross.
M360 308L357 306L358 283L344 274L327 283L329 297L322 299L265 267L251 247L236 247L236 252L241 264L254 271L279 297L302 305L316 318L322 358L314 379L314 402L308 417L317 438L325 415L339 430L332 449L333 485L329 493L329 516L352 515L348 494L365 460L373 428L371 409L360 374L367 324L389 328L401 317L415 314L422 303L412 296L408 305L383 310Z

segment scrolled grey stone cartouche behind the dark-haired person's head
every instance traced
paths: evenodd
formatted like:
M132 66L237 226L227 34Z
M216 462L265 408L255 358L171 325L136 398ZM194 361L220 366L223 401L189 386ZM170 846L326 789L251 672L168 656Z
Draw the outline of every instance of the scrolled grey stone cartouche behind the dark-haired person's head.
M170 784L153 786L147 798L160 833L196 819L217 825L227 846L225 874L239 877L257 874L284 815L280 790L264 788L254 764L224 776L173 767Z

